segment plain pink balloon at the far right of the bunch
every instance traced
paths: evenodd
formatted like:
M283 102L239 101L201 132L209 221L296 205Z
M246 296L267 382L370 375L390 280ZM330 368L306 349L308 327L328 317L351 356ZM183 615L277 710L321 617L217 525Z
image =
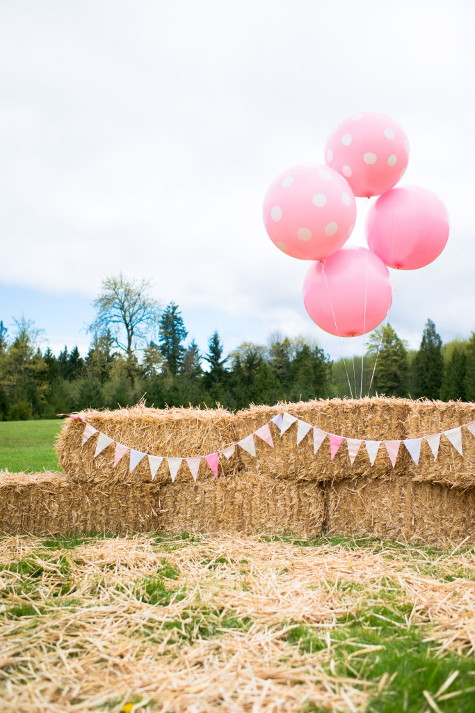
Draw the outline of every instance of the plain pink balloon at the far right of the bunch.
M449 214L432 190L407 186L380 195L370 208L367 244L397 270L417 270L439 257L449 237Z

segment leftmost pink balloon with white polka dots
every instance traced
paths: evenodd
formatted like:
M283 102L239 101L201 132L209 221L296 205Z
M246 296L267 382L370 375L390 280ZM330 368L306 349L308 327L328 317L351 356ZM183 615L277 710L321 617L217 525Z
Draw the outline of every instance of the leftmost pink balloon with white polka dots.
M268 188L263 219L279 250L299 260L322 260L350 237L356 220L355 196L332 168L294 166Z

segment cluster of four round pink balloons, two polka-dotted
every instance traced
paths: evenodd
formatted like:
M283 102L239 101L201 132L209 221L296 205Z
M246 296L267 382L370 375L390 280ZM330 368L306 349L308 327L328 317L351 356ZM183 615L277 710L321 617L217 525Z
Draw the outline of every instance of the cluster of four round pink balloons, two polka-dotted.
M338 124L325 145L325 165L284 171L271 183L263 219L274 245L312 260L303 302L318 327L340 337L375 329L392 302L388 267L416 270L440 255L449 216L432 191L394 188L409 160L402 127L363 111ZM355 227L357 197L380 196L366 220L368 247L343 247Z

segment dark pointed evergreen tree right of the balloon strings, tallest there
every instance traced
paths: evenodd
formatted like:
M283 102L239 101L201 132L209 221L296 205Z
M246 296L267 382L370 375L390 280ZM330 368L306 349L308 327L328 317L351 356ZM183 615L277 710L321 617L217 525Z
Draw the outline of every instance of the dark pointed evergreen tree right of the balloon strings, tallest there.
M419 352L413 362L414 389L417 398L439 399L444 359L442 358L442 339L437 334L432 319L427 319L422 333Z

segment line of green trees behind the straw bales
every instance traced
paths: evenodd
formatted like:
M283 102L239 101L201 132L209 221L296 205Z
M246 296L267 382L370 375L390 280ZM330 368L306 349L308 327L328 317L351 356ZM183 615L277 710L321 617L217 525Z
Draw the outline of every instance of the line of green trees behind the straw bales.
M85 356L77 346L58 356L42 352L41 330L25 317L11 335L0 322L0 420L51 419L139 400L157 408L229 409L360 392L475 401L475 332L443 345L429 319L411 352L387 324L370 334L364 359L345 363L310 339L277 333L265 345L244 342L225 355L214 332L202 354L194 339L187 341L177 304L162 309L149 288L122 275L103 282Z

